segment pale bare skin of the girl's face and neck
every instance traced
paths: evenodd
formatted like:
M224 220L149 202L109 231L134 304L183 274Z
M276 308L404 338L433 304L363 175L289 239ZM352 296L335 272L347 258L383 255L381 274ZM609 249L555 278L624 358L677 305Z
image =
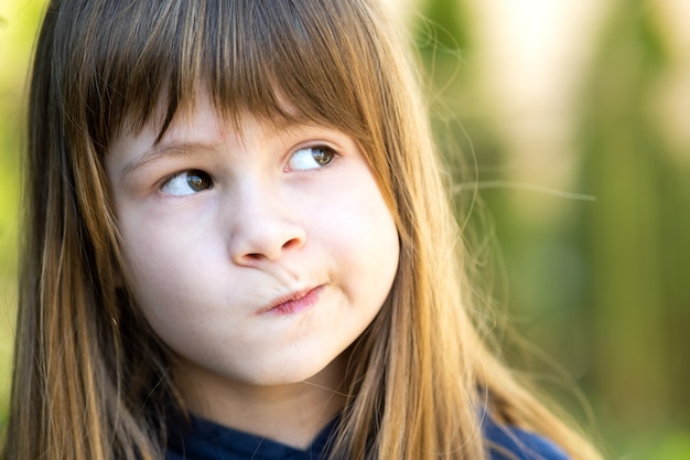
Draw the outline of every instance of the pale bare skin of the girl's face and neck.
M106 156L125 278L192 411L304 448L344 404L348 346L388 296L398 234L344 132L239 132L204 95ZM365 146L366 147L366 146Z

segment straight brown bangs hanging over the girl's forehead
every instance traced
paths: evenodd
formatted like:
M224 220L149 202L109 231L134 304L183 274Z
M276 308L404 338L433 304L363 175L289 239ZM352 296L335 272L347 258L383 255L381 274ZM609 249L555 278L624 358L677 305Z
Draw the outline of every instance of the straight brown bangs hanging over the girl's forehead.
M119 130L138 132L149 121L160 126L160 140L198 92L236 127L250 113L331 126L360 143L377 130L379 52L359 2L84 1L61 19L90 31L73 40L67 86L84 97L66 98L77 104L66 111L88 114L100 150Z

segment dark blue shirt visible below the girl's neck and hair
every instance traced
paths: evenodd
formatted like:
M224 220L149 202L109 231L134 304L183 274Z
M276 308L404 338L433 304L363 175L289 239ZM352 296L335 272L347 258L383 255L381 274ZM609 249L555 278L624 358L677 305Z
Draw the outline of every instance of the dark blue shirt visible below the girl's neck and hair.
M172 428L166 460L325 460L328 439L337 419L326 426L312 445L302 450L259 436L227 428L201 418ZM484 437L490 460L568 460L553 442L486 418ZM509 452L510 456L505 452Z

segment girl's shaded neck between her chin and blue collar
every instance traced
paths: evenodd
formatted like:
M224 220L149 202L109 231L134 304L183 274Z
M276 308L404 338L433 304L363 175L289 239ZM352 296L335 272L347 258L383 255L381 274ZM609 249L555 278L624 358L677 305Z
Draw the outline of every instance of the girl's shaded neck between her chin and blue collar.
M305 449L345 405L343 361L336 359L312 378L289 385L259 386L208 375L180 383L195 415Z

